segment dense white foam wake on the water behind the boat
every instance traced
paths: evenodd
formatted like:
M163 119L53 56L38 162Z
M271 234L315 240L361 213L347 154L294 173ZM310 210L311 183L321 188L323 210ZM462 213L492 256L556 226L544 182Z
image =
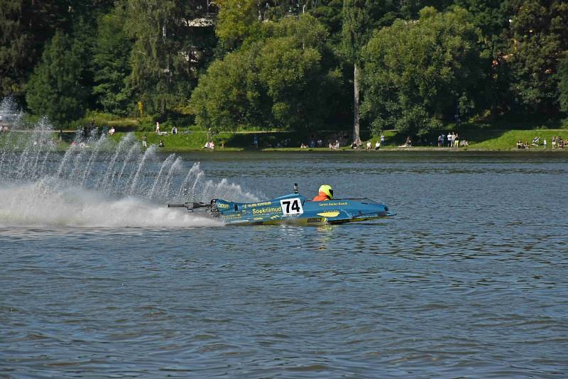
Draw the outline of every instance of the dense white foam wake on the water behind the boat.
M100 192L51 180L0 188L1 227L167 229L221 225L221 221L185 209L170 209L136 197L110 199Z

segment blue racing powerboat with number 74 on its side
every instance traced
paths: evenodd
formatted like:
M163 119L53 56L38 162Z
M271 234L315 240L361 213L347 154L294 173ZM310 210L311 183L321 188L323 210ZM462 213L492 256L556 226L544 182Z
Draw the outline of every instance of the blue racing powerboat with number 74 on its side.
M385 204L365 197L313 202L298 193L297 185L294 185L294 189L292 194L263 202L237 203L212 199L209 204L186 202L168 204L168 207L182 207L190 211L208 209L212 216L219 217L225 224L246 225L344 224L395 215Z

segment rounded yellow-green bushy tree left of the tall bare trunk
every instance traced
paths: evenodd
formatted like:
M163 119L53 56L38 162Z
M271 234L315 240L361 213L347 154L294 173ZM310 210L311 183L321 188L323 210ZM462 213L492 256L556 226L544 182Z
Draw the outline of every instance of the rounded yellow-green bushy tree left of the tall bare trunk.
M342 82L322 62L327 31L309 14L262 25L263 40L214 62L192 95L204 127L315 128L334 115Z

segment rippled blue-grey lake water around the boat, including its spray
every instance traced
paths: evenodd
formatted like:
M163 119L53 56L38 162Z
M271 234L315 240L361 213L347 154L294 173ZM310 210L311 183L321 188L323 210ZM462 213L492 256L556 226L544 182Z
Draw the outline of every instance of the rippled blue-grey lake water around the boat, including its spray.
M568 155L38 150L0 160L0 377L568 375ZM295 182L397 215L165 207Z

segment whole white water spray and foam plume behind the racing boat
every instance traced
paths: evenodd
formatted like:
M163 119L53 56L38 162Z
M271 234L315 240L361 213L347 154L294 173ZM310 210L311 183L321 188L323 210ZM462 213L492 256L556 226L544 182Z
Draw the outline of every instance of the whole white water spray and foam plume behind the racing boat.
M258 199L226 180L208 180L199 163L187 169L174 154L163 158L155 146L141 148L132 133L115 143L80 129L60 153L45 117L26 125L6 99L0 114L18 115L0 133L0 226L209 225L164 204Z

